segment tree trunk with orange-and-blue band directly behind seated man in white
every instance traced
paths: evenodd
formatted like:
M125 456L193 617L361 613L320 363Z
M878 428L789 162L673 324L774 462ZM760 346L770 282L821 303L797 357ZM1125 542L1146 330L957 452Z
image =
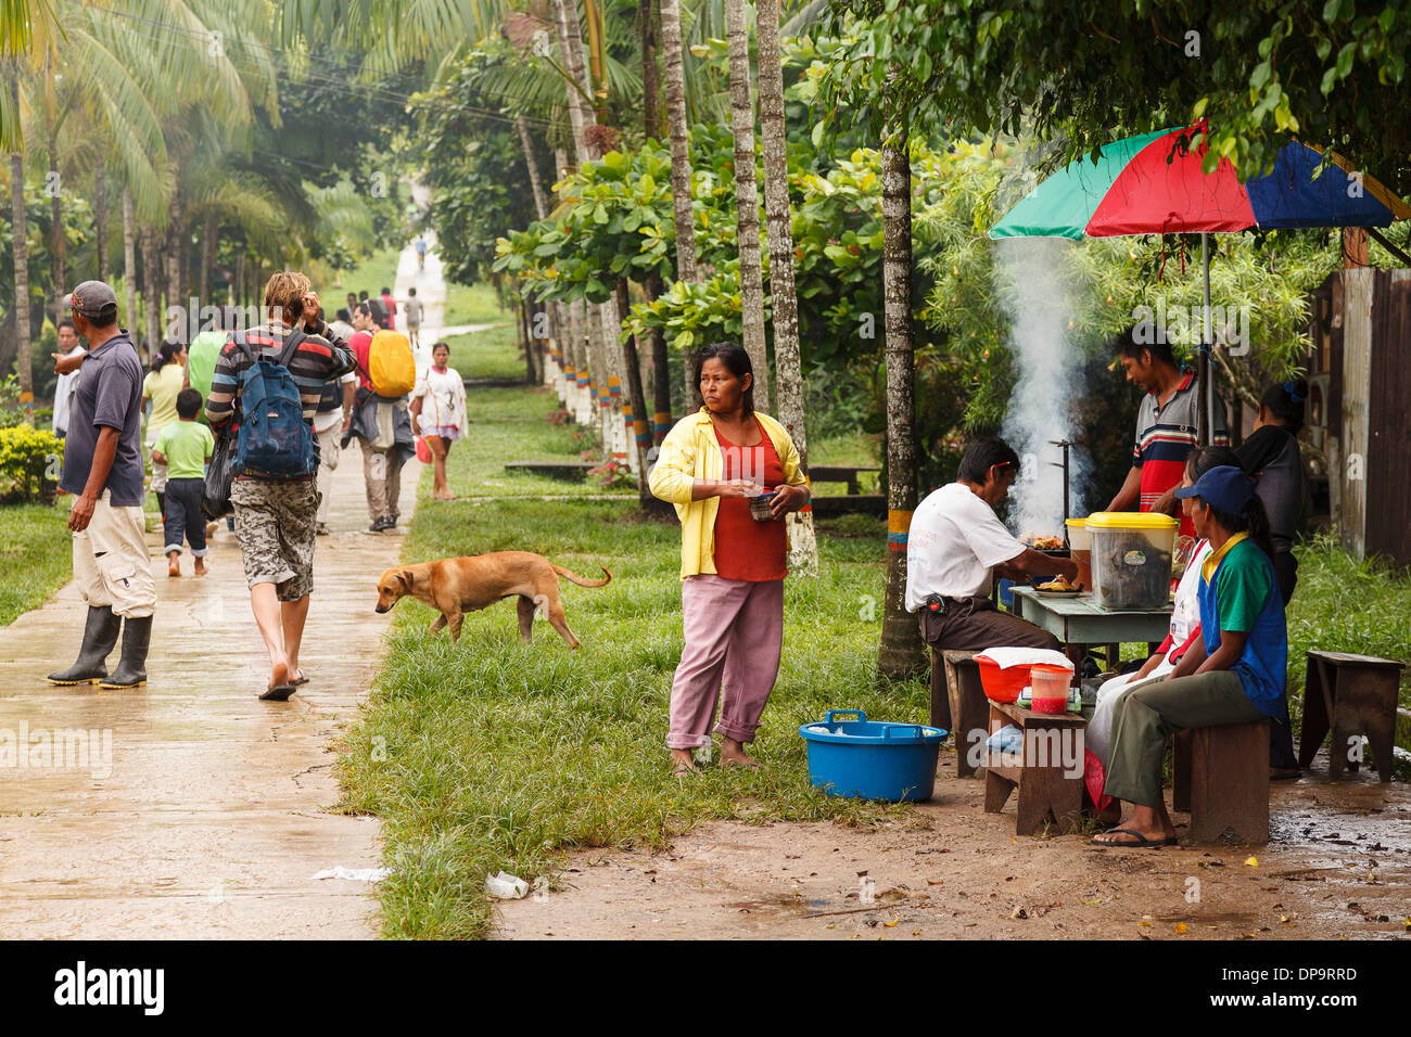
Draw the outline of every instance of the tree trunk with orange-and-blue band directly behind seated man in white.
M912 340L912 164L906 131L882 145L882 299L886 327L886 604L878 672L902 680L926 666L916 617L906 611L906 535L916 511L916 382Z

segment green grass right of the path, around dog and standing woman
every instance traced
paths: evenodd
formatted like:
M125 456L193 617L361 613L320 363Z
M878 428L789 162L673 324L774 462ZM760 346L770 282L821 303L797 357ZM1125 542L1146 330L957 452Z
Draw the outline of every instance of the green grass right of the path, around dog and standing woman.
M473 447L450 456L453 490L470 492L511 453L564 453L567 432L542 418L555 402L542 389L473 394ZM682 650L676 523L641 519L634 497L512 499L501 487L505 499L443 504L426 499L428 487L408 562L519 549L587 577L605 566L614 580L601 590L564 583L579 652L547 624L521 645L509 602L468 615L457 645L426 636L432 610L398 605L385 666L340 762L343 808L385 821L388 937L485 935L487 873L553 882L577 848L662 847L710 818L906 815L813 793L797 736L827 708L926 720L920 681L873 683L886 545L876 523L845 519L831 535L824 526L820 577L786 584L785 660L756 742L766 768L707 768L682 782L669 776L665 749Z

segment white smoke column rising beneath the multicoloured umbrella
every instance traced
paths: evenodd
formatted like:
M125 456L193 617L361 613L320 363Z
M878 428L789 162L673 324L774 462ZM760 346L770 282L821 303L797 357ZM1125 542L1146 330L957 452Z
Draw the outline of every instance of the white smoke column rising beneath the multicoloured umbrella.
M1064 238L1002 238L995 247L995 282L1009 315L1009 348L1019 374L1000 436L1020 457L1009 492L1009 526L1017 536L1062 536L1062 451L1053 440L1075 440L1074 402L1086 380L1068 322L1081 291L1070 275ZM1091 463L1070 450L1071 514L1086 515L1084 487Z

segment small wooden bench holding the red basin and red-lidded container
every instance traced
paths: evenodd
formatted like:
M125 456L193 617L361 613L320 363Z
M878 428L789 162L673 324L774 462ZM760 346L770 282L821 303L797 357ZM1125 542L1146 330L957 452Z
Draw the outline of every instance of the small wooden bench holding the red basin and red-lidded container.
M986 753L985 813L998 814L1019 790L1016 835L1033 835L1051 821L1058 831L1078 831L1082 825L1082 732L1088 721L1075 712L1034 712L1017 703L989 703L989 732L1006 724L1019 728L1024 738L1023 755L1016 765L1006 753ZM1268 746L1264 746L1267 756ZM1077 770L1070 775L1064 758Z

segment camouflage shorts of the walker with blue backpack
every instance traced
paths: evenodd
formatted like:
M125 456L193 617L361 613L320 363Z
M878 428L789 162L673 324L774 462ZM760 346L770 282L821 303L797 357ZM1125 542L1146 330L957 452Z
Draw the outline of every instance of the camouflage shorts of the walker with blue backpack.
M272 583L279 601L298 601L313 590L313 533L319 509L315 481L278 483L237 478L230 488L236 539L246 583Z

